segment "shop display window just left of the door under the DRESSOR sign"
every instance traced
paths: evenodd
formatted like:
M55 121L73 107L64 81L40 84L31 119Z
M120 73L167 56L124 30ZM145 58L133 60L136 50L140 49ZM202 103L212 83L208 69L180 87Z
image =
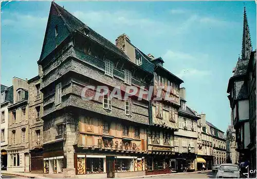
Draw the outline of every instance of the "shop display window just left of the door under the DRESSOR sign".
M103 173L103 158L86 158L86 174Z

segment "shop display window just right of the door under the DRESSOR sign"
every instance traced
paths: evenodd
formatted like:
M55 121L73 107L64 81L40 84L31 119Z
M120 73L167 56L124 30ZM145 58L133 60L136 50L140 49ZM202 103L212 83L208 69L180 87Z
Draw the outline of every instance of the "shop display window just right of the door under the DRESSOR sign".
M134 171L134 159L117 159L115 162L115 172Z

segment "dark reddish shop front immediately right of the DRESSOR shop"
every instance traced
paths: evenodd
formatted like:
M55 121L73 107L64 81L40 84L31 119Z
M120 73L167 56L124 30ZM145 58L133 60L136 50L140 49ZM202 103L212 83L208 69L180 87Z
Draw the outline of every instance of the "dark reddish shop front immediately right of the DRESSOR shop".
M148 156L145 170L146 175L169 173L169 160L166 155Z

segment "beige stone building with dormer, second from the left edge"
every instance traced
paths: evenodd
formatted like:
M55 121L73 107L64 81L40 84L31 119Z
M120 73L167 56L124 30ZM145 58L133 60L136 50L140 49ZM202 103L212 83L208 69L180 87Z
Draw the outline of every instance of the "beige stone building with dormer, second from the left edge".
M12 79L13 104L8 106L8 166L10 172L29 171L28 83Z

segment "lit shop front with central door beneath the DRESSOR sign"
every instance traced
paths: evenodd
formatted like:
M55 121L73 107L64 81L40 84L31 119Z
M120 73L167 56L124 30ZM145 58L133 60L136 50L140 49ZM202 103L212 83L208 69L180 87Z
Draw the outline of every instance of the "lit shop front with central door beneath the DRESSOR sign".
M124 156L111 153L76 153L75 168L76 175L80 178L113 178L145 175L143 156Z

